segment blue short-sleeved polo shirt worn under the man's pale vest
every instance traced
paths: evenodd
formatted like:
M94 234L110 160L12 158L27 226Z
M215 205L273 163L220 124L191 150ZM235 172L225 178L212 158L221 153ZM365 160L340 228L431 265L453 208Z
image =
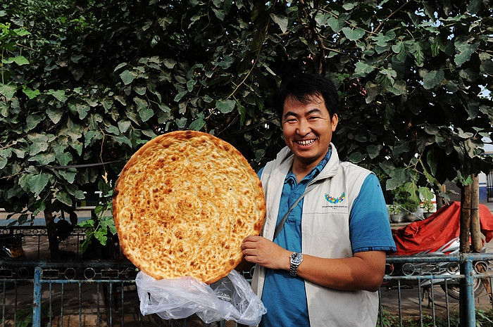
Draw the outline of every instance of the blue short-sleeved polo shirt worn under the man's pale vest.
M325 158L299 183L292 172L287 174L282 188L277 223L284 217L294 201L304 193L308 183L322 171L331 153L329 149ZM262 170L258 172L258 175L261 176L261 173ZM301 199L297 206L289 212L284 227L274 240L282 248L294 252L302 252L303 201ZM368 219L369 216L371 219ZM396 250L390 231L387 206L380 182L375 174L368 175L354 201L349 216L349 233L353 252L368 250L393 252ZM304 280L290 276L289 271L266 269L262 302L267 309L267 314L262 317L260 326L310 326Z

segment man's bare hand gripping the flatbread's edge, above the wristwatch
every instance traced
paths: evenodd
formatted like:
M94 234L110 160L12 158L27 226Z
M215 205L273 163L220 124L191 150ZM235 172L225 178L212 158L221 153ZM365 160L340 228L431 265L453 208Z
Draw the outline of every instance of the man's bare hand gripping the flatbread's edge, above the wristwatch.
M289 257L292 252L267 238L246 236L242 243L242 252L247 262L260 264L269 269L289 270Z

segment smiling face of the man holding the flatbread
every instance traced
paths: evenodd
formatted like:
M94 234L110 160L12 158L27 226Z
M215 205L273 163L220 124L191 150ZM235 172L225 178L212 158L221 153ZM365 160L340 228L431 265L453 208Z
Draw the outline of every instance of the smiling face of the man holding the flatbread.
M309 103L288 96L282 110L282 134L295 162L315 167L327 153L338 121L337 115L330 118L321 96L313 95Z

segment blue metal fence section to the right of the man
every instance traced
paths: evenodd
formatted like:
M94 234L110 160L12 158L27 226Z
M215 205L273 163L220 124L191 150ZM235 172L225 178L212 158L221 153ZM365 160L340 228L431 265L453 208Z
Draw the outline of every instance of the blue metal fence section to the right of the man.
M466 317L465 326L476 327L476 310L493 310L492 260L493 253L388 256L387 266L399 269L389 269L380 287L380 326L385 326L385 307L390 305L399 326L404 320L423 326L425 318L432 321L430 326L437 326L437 319L444 321L442 326L458 326L460 314ZM397 295L385 296L389 290ZM493 316L490 320L488 326L493 326Z

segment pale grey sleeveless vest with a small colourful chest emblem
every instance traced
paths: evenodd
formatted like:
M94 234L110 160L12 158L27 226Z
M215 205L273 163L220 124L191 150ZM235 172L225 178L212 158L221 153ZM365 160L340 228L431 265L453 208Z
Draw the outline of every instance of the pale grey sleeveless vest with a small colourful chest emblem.
M311 181L317 185L305 195L301 221L302 252L327 258L352 257L349 239L349 213L363 181L371 172L350 162L339 162L335 146L325 168ZM282 185L291 169L293 155L283 148L277 158L264 167L261 181L266 196L266 222L262 236L273 238ZM252 288L262 297L266 269L256 266ZM305 281L311 326L375 326L376 292L334 290Z

